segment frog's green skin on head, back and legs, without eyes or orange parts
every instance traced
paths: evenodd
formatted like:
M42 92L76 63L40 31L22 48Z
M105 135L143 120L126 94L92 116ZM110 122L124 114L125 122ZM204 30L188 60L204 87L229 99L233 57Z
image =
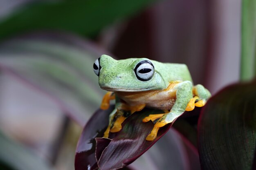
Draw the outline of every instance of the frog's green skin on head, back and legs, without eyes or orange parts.
M115 60L108 55L100 57L100 73L99 86L107 91L153 91L164 90L170 82L180 81L175 86L176 100L168 114L159 119L159 122L171 123L177 117L184 113L185 108L193 98L192 88L193 82L189 70L185 64L161 63L154 60L152 62L155 68L155 74L148 81L141 81L135 75L135 66L147 58L129 58L126 60ZM202 85L195 86L198 97L206 101L210 96L210 92ZM116 108L120 105L118 97L116 97ZM110 123L112 123L115 112L110 114Z

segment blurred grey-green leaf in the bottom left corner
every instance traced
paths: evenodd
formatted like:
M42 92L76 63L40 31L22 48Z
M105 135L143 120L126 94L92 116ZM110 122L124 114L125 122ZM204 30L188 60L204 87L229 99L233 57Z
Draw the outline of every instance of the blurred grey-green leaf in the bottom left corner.
M0 168L4 170L53 170L31 150L0 132Z

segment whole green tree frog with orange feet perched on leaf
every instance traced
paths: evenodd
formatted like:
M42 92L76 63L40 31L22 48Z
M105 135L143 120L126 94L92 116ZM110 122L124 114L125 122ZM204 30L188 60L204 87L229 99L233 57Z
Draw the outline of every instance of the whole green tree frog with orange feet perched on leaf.
M123 121L144 107L163 110L162 114L148 115L142 121L153 121L154 127L146 140L152 141L159 128L173 122L184 111L205 105L211 93L198 84L193 86L185 64L161 63L147 58L115 60L102 55L93 64L99 76L99 86L109 91L103 97L101 109L108 109L115 99L109 125L104 133L121 130Z

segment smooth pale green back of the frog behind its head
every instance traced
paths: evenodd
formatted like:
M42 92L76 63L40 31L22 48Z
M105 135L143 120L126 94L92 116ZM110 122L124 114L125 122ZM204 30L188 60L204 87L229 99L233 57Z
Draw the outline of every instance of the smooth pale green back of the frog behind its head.
M172 81L190 81L193 83L186 64L161 63L154 60L152 63L155 66L155 71L161 75L162 79L164 79L166 86Z

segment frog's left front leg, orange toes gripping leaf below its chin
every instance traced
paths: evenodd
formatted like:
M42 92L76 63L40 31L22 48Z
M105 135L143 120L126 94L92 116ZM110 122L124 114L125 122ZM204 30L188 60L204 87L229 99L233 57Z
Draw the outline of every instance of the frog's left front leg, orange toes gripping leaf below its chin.
M109 132L119 132L122 129L122 123L124 120L137 111L142 110L146 104L138 104L135 106L129 106L128 104L120 103L117 108L112 111L109 116L108 128L104 132L104 136L108 138Z

